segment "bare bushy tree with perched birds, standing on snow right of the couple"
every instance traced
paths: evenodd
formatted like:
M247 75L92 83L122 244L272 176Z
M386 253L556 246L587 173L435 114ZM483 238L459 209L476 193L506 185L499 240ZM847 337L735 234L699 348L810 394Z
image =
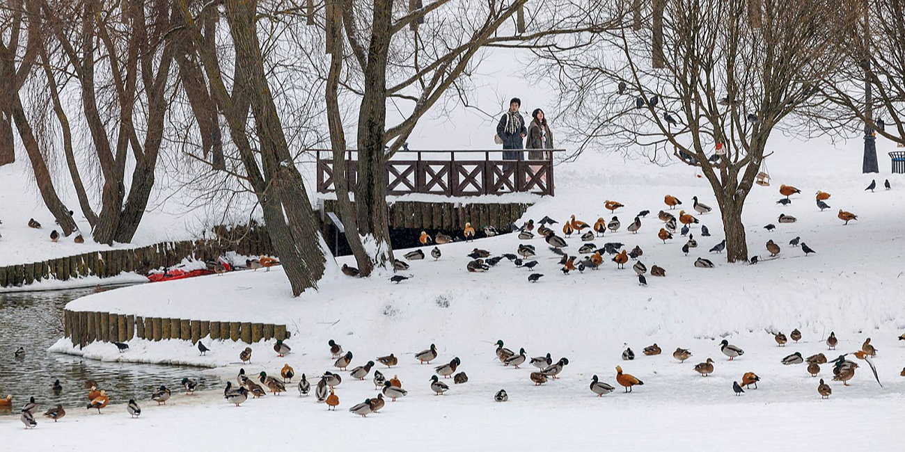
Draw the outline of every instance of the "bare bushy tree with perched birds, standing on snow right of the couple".
M583 147L700 168L719 204L729 262L748 259L741 217L768 139L795 132L816 81L842 64L835 33L858 10L844 0L756 4L759 14L748 0L666 0L656 41L650 29L626 25L599 34L595 46L540 52L560 71L562 119Z

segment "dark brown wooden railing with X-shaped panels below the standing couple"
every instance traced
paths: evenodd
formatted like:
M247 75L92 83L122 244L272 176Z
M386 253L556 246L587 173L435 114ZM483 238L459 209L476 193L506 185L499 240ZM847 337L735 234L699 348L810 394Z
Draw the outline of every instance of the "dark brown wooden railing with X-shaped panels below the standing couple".
M387 194L439 194L449 197L486 194L535 193L554 195L553 154L563 149L531 149L519 152L519 160L503 160L502 150L397 151L386 163ZM317 155L318 192L335 191L333 151L313 150ZM525 160L541 153L539 160ZM357 151L346 155L346 180L357 184Z

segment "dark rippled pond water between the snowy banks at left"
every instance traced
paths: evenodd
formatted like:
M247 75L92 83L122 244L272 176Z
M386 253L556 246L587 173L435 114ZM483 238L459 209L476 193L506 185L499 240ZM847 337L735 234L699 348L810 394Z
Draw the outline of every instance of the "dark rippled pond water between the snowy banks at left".
M160 385L176 393L181 391L184 377L197 380L199 390L218 385L211 372L191 366L101 363L48 353L47 348L63 335L63 306L95 290L0 292L0 398L13 395L12 410L0 406L0 416L17 414L32 396L42 413L58 403L66 410L85 410L88 391L84 384L88 380L97 381L99 389L107 391L110 404L148 400ZM24 356L15 357L20 346ZM60 380L62 391L52 391L55 380Z

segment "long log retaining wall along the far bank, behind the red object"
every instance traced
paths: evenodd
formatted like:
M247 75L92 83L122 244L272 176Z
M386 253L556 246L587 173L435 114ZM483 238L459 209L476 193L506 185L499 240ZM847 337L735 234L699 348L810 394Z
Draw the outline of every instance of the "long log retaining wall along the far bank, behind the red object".
M44 279L68 280L85 276L110 278L123 271L142 275L153 268L170 267L182 259L216 259L226 251L247 256L273 255L270 237L263 227L214 228L214 238L157 243L131 250L90 251L76 256L0 267L0 287L20 287Z

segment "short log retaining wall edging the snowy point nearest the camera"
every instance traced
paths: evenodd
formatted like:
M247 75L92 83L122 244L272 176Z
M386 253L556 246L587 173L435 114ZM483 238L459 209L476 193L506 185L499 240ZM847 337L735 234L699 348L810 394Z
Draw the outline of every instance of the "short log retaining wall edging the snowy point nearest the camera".
M110 314L91 311L63 311L63 330L73 346L92 342L127 342L135 337L148 341L181 339L192 344L210 336L254 344L274 338L288 339L286 325L251 322L216 322L171 317Z

